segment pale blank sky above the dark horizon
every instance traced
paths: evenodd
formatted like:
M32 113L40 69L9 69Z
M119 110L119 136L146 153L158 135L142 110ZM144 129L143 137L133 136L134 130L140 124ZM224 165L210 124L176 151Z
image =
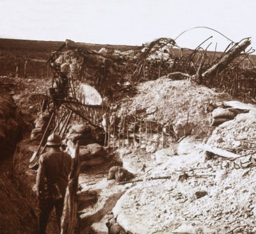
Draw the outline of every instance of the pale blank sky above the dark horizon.
M255 10L255 0L0 0L0 38L141 45L205 26L235 42L252 37L256 48ZM176 42L195 49L209 36L211 50L230 43L203 28Z

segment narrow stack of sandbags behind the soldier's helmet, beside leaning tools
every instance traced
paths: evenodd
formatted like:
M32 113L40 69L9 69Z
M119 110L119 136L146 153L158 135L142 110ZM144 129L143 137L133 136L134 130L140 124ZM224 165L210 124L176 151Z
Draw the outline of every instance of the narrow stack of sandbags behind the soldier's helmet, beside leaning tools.
M44 135L45 129L51 118L49 113L41 113L35 120L35 129L32 130L30 139L31 141L40 141Z

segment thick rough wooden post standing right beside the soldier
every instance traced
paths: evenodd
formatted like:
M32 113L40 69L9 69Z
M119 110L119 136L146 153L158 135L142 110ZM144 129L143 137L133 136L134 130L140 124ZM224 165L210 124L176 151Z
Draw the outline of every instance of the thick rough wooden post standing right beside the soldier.
M68 187L61 217L61 234L74 234L77 228L77 185L80 173L79 143L76 143L74 158L68 178Z

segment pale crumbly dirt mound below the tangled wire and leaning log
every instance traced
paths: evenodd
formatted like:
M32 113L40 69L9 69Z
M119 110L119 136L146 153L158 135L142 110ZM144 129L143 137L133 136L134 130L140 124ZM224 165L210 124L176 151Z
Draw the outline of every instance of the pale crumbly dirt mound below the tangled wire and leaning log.
M216 93L205 86L193 86L189 81L173 81L166 77L156 81L138 84L138 94L122 105L121 114L135 114L143 120L153 120L173 127L193 126L191 134L200 138L209 136L211 127L211 107L217 107L223 100L230 100L225 93ZM154 111L150 111L154 109Z

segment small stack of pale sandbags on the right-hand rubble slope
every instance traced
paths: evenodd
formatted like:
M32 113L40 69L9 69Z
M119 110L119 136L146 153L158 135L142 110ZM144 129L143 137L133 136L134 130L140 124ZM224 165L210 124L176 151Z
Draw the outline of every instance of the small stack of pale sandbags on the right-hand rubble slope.
M237 113L230 111L230 109L224 109L218 107L212 111L212 126L218 126L228 120L233 120Z

